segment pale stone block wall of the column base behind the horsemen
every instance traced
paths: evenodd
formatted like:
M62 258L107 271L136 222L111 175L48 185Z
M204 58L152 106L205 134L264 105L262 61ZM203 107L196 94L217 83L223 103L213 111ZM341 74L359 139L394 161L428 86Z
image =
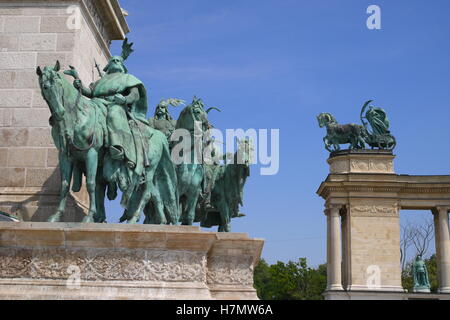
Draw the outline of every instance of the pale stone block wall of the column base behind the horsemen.
M74 65L98 79L112 40L129 31L117 0L0 0L0 211L42 221L58 201L58 153L37 66ZM87 195L73 194L65 221L78 221Z

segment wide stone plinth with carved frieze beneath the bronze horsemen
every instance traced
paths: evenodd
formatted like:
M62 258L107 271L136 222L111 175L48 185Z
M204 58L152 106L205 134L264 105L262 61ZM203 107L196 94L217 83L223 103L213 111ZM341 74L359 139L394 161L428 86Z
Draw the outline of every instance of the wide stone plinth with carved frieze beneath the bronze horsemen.
M257 299L263 243L198 227L0 222L0 299Z

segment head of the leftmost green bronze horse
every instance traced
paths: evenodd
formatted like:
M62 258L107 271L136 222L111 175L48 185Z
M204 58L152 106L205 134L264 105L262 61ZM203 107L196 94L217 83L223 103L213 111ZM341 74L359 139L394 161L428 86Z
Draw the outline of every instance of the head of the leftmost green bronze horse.
M54 67L37 67L36 73L39 76L39 85L41 87L42 96L50 108L52 117L57 121L61 121L65 114L63 104L63 79L58 73L61 69L59 61Z

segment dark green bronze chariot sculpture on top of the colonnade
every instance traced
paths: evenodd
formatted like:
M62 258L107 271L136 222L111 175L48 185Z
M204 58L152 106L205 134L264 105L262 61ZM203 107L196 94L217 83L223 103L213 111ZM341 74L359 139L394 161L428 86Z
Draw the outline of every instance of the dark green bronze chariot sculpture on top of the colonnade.
M317 116L319 126L327 129L323 141L329 152L339 151L341 144L350 144L349 149L364 149L366 144L372 149L380 150L393 150L396 147L397 141L389 130L386 111L370 106L371 103L372 100L367 101L361 109L362 125L339 124L330 113Z

